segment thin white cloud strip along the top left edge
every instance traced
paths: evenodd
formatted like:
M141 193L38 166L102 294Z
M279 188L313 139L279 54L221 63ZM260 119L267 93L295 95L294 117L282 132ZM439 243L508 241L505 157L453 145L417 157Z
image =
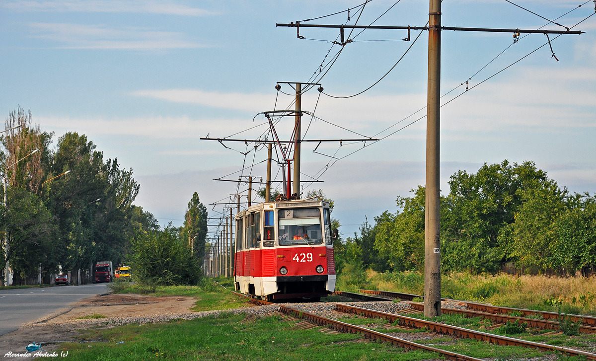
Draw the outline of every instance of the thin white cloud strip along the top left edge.
M188 7L173 1L144 0L60 0L60 1L3 1L0 8L14 11L47 11L77 13L150 13L183 16L205 16L215 13Z

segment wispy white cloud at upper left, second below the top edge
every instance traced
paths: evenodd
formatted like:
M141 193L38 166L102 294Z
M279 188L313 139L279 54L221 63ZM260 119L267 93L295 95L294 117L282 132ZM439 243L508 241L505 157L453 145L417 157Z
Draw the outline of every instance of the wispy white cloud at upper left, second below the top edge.
M111 29L105 25L30 23L33 38L59 43L67 49L177 49L203 48L179 32L159 32L138 27Z

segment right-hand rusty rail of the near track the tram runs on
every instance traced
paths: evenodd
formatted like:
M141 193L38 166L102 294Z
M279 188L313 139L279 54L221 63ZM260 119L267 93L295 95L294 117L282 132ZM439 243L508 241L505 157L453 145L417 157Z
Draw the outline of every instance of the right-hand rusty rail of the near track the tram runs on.
M403 325L406 327L411 327L411 328L426 328L426 329L429 329L430 331L437 332L439 334L448 334L448 335L454 335L456 337L465 337L465 338L471 338L474 340L488 341L493 344L499 344L499 345L504 345L504 346L531 347L531 348L537 348L538 350L543 350L543 351L555 351L556 350L556 351L561 351L561 352L567 353L567 354L573 354L573 355L578 355L578 356L582 355L582 356L585 356L589 360L596 360L596 354L585 352L585 351L580 351L580 350L574 350L573 348L552 346L552 345L547 345L547 344L542 344L542 343L536 343L533 341L520 340L519 338L494 335L494 334L489 334L488 332L474 331L471 329L461 328L458 326L445 325L444 323L437 323L437 322L432 322L432 321L427 321L427 320L422 320L422 319L417 319L417 318L411 318L408 316L395 315L394 313L380 312L380 311L375 311L375 310L364 309L362 307L348 306L347 304L340 304L340 303L331 303L331 304L336 305L336 309L339 310L340 312L355 313L356 315L363 315L366 317L383 318L383 319L389 320L390 322L395 322L396 320L399 320L400 325Z

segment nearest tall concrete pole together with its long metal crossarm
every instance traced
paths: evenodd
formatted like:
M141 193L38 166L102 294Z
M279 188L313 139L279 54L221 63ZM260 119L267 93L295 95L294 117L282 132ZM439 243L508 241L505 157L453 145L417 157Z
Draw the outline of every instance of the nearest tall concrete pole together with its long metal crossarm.
M596 2L595 2L596 4ZM522 30L522 29L484 29L471 27L441 26L441 0L430 0L429 26L366 26L366 25L324 25L300 24L299 21L290 24L277 24L281 27L296 27L300 38L300 27L323 27L340 29L342 46L351 42L343 38L344 29L399 29L399 30L429 30L429 73L427 90L427 119L426 119L426 208L424 219L424 316L440 316L440 219L439 219L439 130L440 130L440 49L441 30L467 32L500 32L500 33L536 33L536 34L576 34L581 31L567 30ZM408 38L404 39L409 41ZM550 39L549 39L550 43ZM554 54L553 54L554 56Z

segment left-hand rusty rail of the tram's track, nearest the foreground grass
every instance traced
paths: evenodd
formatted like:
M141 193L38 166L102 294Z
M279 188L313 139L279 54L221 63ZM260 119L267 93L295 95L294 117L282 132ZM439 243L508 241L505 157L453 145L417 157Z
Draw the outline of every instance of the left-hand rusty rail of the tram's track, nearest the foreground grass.
M274 304L268 301L259 300L258 298L248 297L247 295L243 295L238 292L231 292L240 297L249 298L250 303L257 304L259 306ZM482 359L477 359L476 357L465 356L464 354L459 354L451 351L441 350L440 348L434 348L423 344L414 343L412 341L403 340L402 338L394 337L392 335L383 334L383 332L373 331L372 329L364 328L361 326L350 325L349 323L326 318L323 316L314 315L313 313L292 309L291 307L282 306L281 304L280 312L285 313L285 315L288 316L308 320L309 322L316 323L316 325L330 326L330 328L333 328L338 332L350 334L363 334L365 337L369 337L372 340L381 340L384 342L392 343L398 345L399 347L403 347L408 351L425 350L430 352L436 352L444 355L448 360L453 361L483 361Z

